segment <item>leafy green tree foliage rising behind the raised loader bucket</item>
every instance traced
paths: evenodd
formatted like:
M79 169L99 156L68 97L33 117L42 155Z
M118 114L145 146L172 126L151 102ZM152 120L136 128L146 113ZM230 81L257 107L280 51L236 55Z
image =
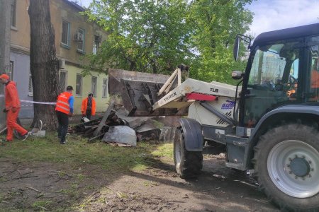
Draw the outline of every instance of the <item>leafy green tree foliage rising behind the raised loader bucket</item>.
M203 81L234 83L233 41L245 34L252 0L94 0L85 12L108 32L86 69L172 73L179 64Z

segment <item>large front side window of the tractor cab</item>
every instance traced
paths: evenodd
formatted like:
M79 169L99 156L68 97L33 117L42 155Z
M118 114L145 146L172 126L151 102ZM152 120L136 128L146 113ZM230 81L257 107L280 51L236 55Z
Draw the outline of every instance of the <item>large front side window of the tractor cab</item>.
M298 91L299 42L280 42L257 47L247 84L245 119L254 127L270 110L296 102Z

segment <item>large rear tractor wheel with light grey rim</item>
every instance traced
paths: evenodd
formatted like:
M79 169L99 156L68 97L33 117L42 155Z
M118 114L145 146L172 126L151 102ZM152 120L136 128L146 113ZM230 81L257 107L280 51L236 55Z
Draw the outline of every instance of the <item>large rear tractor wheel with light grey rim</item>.
M319 210L317 129L288 124L269 130L255 148L254 162L260 187L282 210Z

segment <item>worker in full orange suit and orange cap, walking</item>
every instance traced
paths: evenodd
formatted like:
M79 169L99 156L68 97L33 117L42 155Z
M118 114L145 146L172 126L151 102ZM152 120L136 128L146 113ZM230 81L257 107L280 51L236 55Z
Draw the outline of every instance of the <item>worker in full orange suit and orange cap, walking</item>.
M23 136L23 141L28 138L29 132L22 126L16 123L18 114L21 108L20 100L18 96L18 90L16 89L16 83L10 81L10 77L7 74L2 74L0 76L0 82L6 86L4 98L5 98L5 108L6 112L6 127L7 135L6 141L13 141L13 129L16 129L19 134Z

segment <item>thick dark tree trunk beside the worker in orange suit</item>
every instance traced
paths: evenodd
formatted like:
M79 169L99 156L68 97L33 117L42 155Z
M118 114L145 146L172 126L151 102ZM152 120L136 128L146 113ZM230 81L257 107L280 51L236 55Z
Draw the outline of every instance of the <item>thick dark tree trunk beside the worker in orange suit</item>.
M33 100L56 102L59 61L55 51L55 32L51 23L49 0L30 0L28 13ZM55 106L34 104L33 126L38 126L40 120L45 129L55 130Z

